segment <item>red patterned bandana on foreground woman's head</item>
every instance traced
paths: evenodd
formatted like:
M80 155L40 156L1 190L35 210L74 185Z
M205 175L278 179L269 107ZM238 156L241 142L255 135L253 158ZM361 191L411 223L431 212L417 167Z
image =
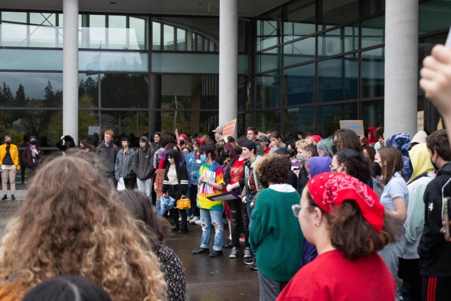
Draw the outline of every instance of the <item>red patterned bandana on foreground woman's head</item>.
M384 226L384 207L377 194L356 178L342 173L323 173L313 177L309 183L313 201L324 211L330 213L346 200L354 200L363 218L377 232Z

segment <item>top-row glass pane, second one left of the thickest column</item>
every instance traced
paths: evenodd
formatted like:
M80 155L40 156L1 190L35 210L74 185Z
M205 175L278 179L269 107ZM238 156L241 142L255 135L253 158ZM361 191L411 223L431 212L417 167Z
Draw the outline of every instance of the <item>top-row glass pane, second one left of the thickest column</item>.
M359 0L318 0L318 31L346 24L359 18Z

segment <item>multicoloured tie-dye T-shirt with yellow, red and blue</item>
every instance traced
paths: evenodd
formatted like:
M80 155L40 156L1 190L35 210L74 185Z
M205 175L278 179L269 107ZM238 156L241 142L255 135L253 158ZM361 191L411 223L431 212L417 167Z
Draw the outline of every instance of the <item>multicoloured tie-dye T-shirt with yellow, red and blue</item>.
M202 164L199 169L199 177L206 177L208 181L214 182L216 184L224 183L222 168L216 162L211 165L207 165L206 163ZM199 208L222 211L223 201L210 201L207 199L207 197L215 196L221 193L222 190L217 190L206 183L201 183L199 185L198 192Z

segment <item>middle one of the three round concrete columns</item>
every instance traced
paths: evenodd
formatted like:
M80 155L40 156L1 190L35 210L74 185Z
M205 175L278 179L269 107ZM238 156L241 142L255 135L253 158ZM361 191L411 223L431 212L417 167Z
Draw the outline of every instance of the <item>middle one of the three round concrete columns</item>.
M238 0L219 0L219 125L237 117Z

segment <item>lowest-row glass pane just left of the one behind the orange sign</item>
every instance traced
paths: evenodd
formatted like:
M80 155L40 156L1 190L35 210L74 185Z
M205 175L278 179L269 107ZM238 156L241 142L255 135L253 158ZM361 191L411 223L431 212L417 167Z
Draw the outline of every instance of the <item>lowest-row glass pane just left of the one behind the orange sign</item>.
M285 109L282 114L284 133L307 132L315 128L315 107Z

